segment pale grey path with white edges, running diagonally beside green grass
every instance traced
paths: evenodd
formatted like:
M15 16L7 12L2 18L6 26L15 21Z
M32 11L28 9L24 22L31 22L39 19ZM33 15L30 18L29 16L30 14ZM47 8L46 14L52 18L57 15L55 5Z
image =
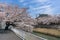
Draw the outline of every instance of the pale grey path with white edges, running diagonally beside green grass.
M47 40L45 38L38 37L38 36L36 36L34 34L31 34L31 33L25 32L25 31L22 31L20 29L11 28L11 30L13 32L15 32L16 35L18 35L19 37L21 37L22 39L25 39L25 40Z

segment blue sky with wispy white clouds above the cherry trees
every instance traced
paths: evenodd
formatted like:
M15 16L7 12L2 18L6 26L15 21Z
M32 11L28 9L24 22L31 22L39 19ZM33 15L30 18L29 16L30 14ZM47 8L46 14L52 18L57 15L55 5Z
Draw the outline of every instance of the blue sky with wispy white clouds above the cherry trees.
M0 3L17 4L28 8L27 12L35 18L38 14L60 14L60 0L0 0Z

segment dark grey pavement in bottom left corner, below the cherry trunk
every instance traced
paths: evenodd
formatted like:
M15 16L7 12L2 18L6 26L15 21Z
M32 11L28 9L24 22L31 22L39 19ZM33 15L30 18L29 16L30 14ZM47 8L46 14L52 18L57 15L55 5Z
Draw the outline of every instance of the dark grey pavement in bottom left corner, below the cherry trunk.
M13 32L7 31L4 33L0 32L0 40L20 40Z

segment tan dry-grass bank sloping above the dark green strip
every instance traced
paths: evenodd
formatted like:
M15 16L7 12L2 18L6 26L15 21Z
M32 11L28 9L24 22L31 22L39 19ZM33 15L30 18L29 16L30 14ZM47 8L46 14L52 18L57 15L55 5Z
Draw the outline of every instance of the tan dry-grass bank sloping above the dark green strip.
M43 33L55 37L60 37L60 30L57 29L47 29L47 28L35 28L34 32Z

